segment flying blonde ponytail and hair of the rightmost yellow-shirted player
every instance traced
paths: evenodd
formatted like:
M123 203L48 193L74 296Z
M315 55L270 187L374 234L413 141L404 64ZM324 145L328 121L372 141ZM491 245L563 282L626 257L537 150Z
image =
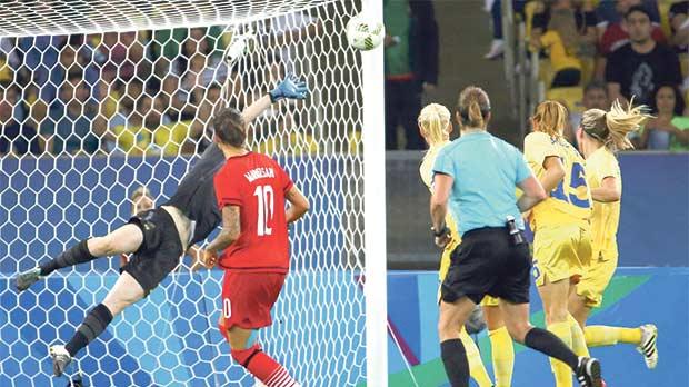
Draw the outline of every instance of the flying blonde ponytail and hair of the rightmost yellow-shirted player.
M611 151L631 149L633 146L627 138L627 133L639 130L641 125L651 115L648 107L632 106L633 98L627 109L622 108L619 100L612 102L610 111L589 109L581 116L581 129L588 136L601 141Z

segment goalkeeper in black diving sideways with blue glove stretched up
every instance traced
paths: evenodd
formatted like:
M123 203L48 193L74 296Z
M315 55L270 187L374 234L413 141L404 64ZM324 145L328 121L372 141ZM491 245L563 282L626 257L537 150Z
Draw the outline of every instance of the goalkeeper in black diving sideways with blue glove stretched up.
M306 99L308 92L306 82L287 77L246 108L241 119L248 125L273 102ZM17 289L22 291L54 270L98 257L133 254L114 287L87 315L72 338L66 345L50 347L56 376L62 375L77 353L106 330L114 316L153 290L178 266L189 247L206 239L220 225L213 177L224 163L222 151L212 145L183 177L168 202L137 214L109 235L84 239L54 259L17 276Z

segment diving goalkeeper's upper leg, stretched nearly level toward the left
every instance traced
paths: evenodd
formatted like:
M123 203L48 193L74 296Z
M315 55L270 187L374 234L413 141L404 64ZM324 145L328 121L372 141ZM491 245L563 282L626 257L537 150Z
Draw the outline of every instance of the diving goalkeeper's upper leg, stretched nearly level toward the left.
M104 237L84 239L56 258L17 276L17 289L26 290L41 277L61 268L84 264L98 257L134 252L142 241L141 228L133 224L124 225Z

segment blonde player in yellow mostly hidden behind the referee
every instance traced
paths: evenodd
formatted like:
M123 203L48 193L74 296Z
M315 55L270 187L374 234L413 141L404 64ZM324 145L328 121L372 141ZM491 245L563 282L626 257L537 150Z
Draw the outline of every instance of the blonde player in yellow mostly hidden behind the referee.
M450 133L452 132L452 123L450 122L450 111L442 105L430 103L426 106L418 118L419 131L429 146L419 171L421 173L421 180L431 189L432 168L436 162L436 156L442 147L450 143ZM446 222L450 228L452 239L442 250L442 257L440 259L440 270L438 272L440 281L445 279L450 267L450 256L452 250L459 246L461 238L457 229L457 224L452 219L450 212L446 217ZM512 338L509 336L502 315L499 308L499 299L490 296L486 296L481 302L483 308L483 316L488 322L489 337L491 344L491 354L493 360L493 373L496 374L496 387L509 387L511 385L512 368L515 365L515 349L512 346ZM460 333L460 339L467 350L469 360L469 370L471 377L476 380L479 387L493 386L488 371L481 360L481 355L471 339L462 327Z

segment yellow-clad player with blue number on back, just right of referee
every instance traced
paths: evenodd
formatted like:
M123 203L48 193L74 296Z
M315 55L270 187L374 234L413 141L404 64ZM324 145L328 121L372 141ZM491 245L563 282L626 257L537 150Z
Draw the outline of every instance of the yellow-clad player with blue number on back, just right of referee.
M531 118L525 157L549 198L530 214L533 230L533 276L543 301L548 330L587 356L583 331L568 311L568 299L591 257L591 200L581 155L562 137L567 109L543 101ZM571 387L571 370L551 359L558 387Z

